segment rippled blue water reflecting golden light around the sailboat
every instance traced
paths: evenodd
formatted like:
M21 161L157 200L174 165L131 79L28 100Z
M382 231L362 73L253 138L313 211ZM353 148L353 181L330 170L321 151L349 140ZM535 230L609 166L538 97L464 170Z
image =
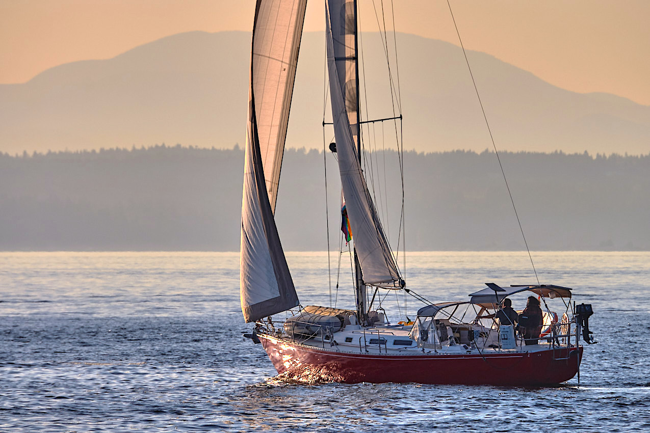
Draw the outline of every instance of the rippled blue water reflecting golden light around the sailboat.
M324 253L288 260L304 304L352 304L335 274L330 295ZM252 327L236 253L0 253L0 431L650 431L650 253L534 260L542 283L593 304L599 343L585 348L579 386L287 383L241 336ZM522 253L407 263L409 287L434 302L535 282ZM419 306L383 302L393 322Z

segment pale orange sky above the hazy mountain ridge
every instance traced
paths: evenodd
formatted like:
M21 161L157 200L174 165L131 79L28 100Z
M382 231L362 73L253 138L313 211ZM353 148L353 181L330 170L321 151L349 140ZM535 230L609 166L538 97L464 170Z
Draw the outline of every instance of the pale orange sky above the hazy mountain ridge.
M359 2L362 28L376 30L372 0ZM650 1L451 3L466 48L568 90L650 105ZM179 32L250 31L254 8L253 0L1 0L0 83ZM395 8L397 31L458 44L446 0L395 0ZM308 1L306 31L322 30L323 10L322 0Z

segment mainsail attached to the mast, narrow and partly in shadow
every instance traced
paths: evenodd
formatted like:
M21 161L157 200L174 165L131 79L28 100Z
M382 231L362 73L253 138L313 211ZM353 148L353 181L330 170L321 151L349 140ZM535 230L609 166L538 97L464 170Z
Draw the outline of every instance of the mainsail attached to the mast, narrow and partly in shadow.
M368 191L359 155L356 1L326 1L331 113L339 173L365 284L400 287L399 270Z

